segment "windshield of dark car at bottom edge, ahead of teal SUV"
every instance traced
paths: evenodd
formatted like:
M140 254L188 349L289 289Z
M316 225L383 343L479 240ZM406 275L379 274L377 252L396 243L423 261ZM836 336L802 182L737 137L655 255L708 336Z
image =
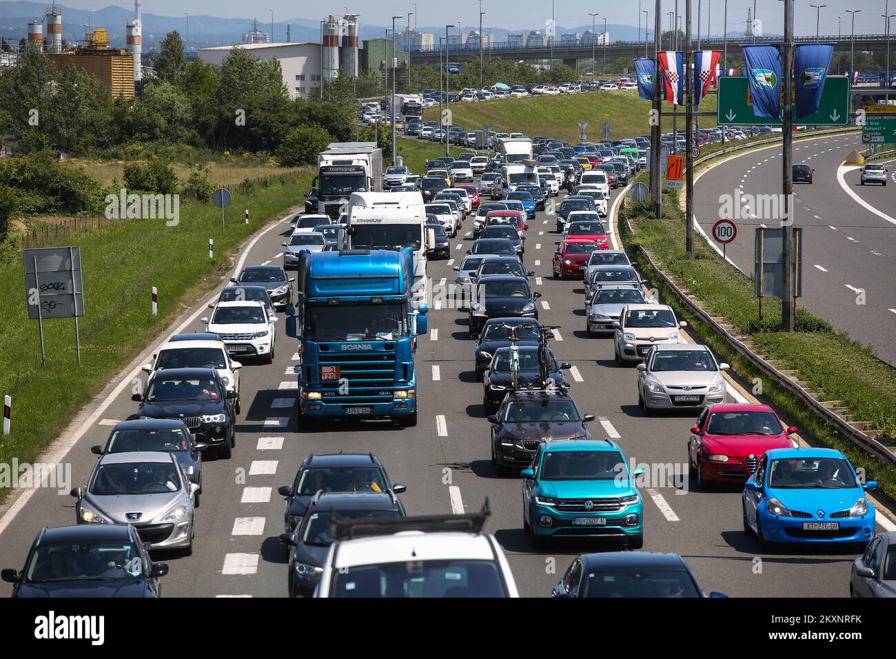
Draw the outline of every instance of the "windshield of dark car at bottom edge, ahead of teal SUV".
M588 570L580 597L700 597L683 569Z

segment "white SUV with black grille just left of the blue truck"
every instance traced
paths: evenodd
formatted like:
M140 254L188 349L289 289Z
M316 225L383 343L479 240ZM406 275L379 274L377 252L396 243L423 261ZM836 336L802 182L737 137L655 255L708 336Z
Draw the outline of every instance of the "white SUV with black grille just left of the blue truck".
M227 344L231 354L261 357L265 364L274 359L274 324L277 316L269 316L261 302L219 302L211 318L203 317L206 332L213 332Z

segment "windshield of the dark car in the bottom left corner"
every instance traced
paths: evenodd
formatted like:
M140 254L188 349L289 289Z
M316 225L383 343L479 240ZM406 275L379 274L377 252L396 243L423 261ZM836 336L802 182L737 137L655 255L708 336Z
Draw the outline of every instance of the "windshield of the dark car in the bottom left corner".
M38 547L25 566L30 584L111 581L145 574L140 551L130 542L76 542Z

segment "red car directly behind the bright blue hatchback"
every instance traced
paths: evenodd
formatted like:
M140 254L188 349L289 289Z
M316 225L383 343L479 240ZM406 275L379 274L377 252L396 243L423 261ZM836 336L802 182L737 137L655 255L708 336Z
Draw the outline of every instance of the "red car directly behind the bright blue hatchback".
M687 463L697 487L742 483L771 448L793 448L785 426L768 405L716 403L703 410L687 441Z

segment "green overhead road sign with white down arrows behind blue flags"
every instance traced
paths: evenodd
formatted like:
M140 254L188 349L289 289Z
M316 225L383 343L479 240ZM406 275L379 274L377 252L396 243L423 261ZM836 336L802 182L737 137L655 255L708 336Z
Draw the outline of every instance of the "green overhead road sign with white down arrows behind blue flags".
M745 75L719 77L719 108L716 120L719 124L737 126L780 126L780 119L756 117L753 114ZM829 75L824 82L822 100L818 112L797 118L797 104L793 107L795 126L846 126L849 124L849 79L842 75Z

